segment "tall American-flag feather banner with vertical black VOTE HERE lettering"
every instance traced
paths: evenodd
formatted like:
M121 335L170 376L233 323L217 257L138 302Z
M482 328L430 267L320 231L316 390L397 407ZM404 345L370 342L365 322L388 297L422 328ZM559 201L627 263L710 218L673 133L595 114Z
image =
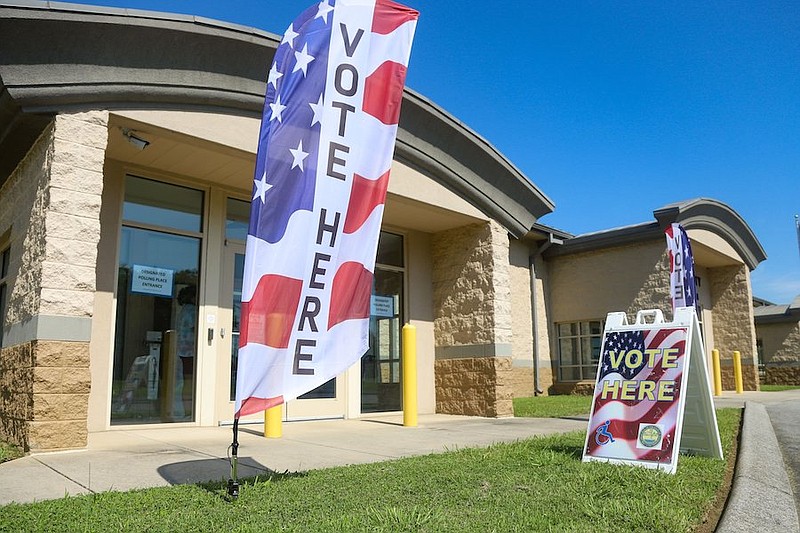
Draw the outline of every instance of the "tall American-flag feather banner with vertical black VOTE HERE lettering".
M369 346L418 16L390 0L324 0L275 52L245 250L236 418L313 390Z

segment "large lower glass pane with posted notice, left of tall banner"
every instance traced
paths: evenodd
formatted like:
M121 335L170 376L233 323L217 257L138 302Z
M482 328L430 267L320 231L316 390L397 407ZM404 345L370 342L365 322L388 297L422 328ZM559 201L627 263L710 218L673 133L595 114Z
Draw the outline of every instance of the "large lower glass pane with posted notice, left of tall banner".
M197 237L123 227L111 423L195 418Z

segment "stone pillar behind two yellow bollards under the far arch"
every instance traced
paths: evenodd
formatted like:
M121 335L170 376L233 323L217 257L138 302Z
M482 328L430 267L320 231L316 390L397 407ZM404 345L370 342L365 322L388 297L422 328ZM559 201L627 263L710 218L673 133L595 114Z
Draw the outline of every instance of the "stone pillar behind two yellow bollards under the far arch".
M734 390L733 352L742 361L745 390L758 390L758 359L750 271L746 265L709 268L714 347L719 350L722 388Z

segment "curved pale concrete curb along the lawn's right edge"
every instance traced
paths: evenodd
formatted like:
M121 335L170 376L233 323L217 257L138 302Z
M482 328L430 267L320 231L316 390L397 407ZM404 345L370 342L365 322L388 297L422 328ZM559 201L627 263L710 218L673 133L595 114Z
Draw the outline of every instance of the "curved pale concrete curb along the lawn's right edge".
M760 403L745 402L733 487L717 531L800 531L783 454Z

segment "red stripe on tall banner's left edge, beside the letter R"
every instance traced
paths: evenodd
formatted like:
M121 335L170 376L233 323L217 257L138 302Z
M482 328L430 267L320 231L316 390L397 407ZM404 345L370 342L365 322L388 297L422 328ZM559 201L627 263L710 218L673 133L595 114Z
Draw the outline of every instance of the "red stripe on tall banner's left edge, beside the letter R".
M249 302L242 302L239 346L289 346L303 281L286 276L261 276Z

